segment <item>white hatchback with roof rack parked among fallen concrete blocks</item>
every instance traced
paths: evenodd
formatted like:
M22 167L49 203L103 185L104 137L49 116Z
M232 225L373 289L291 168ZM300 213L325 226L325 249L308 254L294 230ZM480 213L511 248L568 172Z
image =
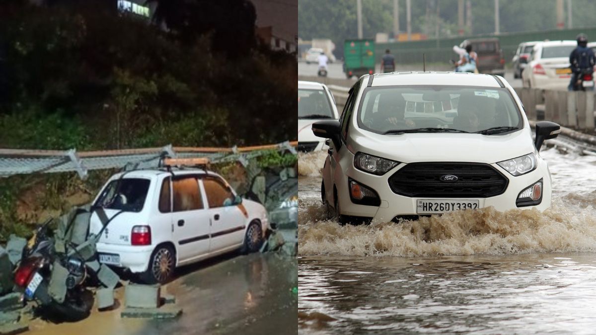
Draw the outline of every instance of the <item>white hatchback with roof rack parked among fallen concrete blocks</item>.
M269 228L265 207L196 168L117 173L94 207L103 209L89 226L89 234L101 234L100 262L128 268L146 283L164 283L177 266L238 248L254 252Z

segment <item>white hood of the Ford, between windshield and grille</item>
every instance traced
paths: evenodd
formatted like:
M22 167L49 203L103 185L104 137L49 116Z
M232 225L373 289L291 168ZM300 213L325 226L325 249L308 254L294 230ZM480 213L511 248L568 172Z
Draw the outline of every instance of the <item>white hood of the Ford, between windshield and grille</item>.
M412 133L380 135L353 132L353 153L361 151L402 163L478 162L492 164L535 152L528 126L506 135Z

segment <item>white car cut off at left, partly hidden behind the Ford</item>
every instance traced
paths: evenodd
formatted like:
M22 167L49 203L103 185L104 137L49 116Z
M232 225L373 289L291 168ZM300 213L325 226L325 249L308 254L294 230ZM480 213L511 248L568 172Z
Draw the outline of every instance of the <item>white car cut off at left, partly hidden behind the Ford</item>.
M311 126L319 120L339 119L336 101L322 83L298 82L298 151L327 150L324 139L312 134Z

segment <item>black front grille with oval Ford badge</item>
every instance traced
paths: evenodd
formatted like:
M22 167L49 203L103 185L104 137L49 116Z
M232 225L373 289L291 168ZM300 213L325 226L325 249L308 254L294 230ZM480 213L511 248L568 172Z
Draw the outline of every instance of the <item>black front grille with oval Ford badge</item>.
M440 177L457 176L445 182ZM406 197L488 198L507 189L509 180L488 164L411 163L389 177L391 190Z

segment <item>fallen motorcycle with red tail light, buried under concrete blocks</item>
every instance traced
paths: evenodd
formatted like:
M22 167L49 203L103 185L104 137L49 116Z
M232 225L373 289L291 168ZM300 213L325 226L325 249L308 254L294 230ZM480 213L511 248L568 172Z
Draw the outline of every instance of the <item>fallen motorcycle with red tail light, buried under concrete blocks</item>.
M38 302L41 314L48 319L79 321L89 316L93 306L93 294L83 283L94 271L77 255L76 248L72 253L56 252L54 238L48 234L51 222L49 219L36 229L24 247L14 283L23 291L23 299Z

